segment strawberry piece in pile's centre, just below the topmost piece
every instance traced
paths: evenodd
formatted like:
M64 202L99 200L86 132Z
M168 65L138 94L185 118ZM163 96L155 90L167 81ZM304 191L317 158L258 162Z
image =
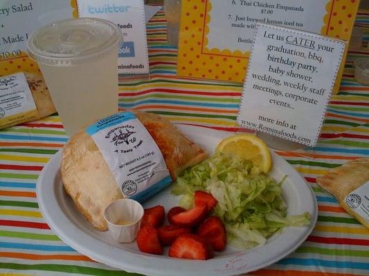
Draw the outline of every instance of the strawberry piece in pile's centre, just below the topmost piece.
M206 205L195 206L190 210L172 216L172 224L181 227L194 227L204 220L207 213Z

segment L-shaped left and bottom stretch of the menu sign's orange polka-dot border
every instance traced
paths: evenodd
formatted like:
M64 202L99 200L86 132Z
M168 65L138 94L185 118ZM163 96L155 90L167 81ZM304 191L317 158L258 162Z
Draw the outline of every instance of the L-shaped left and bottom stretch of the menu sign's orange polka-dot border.
M210 1L183 0L178 55L178 75L243 82L249 53L229 50L206 49L204 20L210 21ZM205 33L208 27L205 25ZM204 37L204 40L203 40ZM231 55L233 57L231 57Z

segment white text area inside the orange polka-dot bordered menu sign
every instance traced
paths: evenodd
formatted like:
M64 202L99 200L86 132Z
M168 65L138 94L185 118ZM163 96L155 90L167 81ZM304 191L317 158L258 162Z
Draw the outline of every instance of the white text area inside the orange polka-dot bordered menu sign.
M328 2L328 0L211 0L211 8L207 9L210 21L206 48L249 51L256 23L320 33ZM222 34L222 39L219 39L219 33Z

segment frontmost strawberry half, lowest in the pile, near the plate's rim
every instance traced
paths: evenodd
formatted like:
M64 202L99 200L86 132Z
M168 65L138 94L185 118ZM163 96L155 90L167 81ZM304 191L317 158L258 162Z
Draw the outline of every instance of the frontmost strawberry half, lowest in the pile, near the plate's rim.
M213 250L203 239L193 234L177 237L169 248L169 256L183 259L210 259Z

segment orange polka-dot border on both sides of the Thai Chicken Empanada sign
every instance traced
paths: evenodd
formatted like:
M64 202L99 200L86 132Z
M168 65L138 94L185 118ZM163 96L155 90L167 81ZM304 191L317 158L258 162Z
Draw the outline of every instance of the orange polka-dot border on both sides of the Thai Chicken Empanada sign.
M177 74L243 82L249 51L206 48L212 4L215 5L215 1L182 0ZM346 41L350 39L358 6L359 0L327 1L326 13L321 19L321 34ZM337 78L338 83L340 80Z

